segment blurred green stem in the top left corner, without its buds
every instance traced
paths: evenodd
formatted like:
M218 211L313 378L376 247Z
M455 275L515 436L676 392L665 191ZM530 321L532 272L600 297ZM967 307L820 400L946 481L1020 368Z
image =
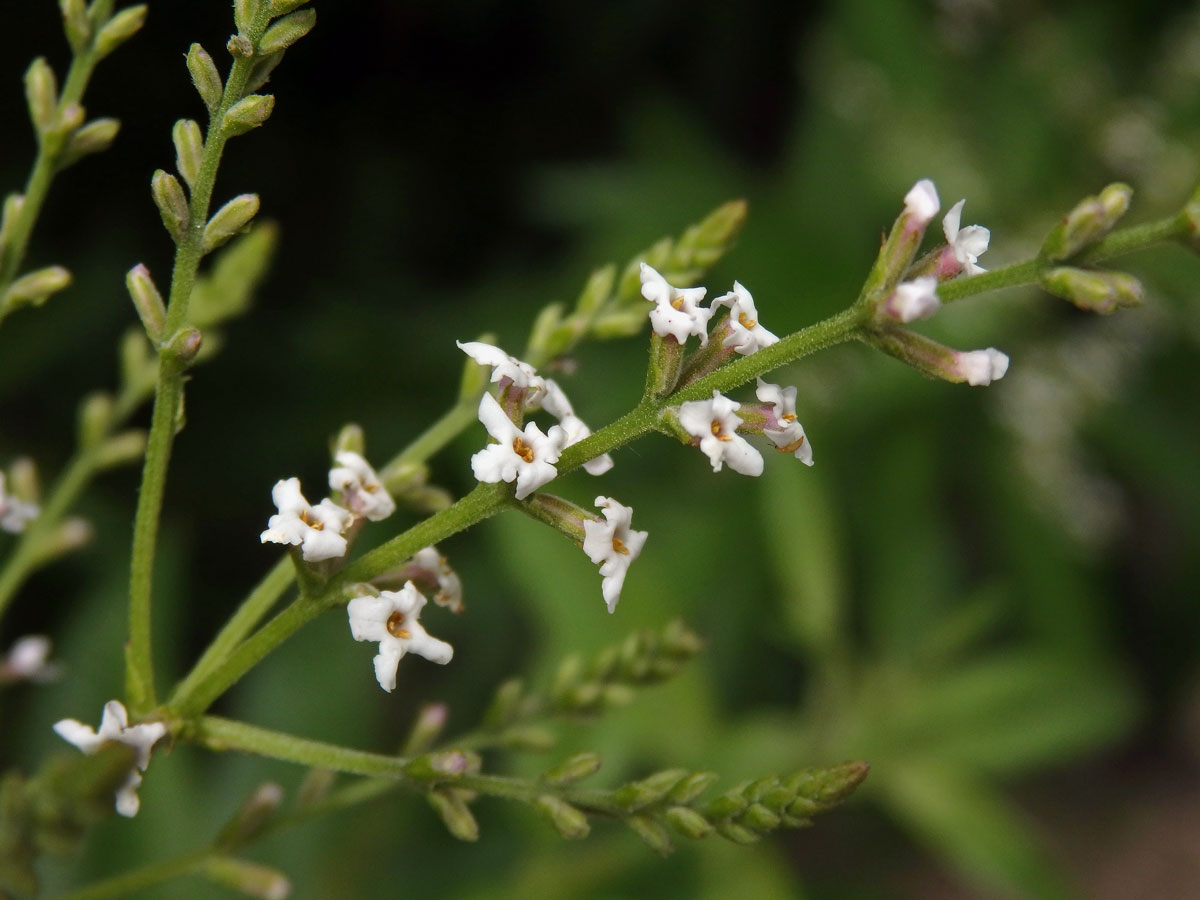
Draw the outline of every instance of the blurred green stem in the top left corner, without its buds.
M71 66L67 68L67 78L62 85L62 92L59 95L55 116L60 116L62 110L70 104L83 100L84 91L88 89L88 82L96 68L96 35L112 18L114 2L115 0L96 0L92 7L92 20L96 23L92 29L92 37L84 50L71 56ZM29 173L29 181L25 182L24 202L20 212L11 224L7 248L0 252L0 299L8 290L8 286L17 277L20 264L25 259L25 251L29 250L29 240L32 236L34 226L37 223L37 216L42 211L42 204L46 202L46 194L50 190L50 182L54 180L59 167L59 158L66 144L66 136L56 138L41 136L38 138L37 157L34 161L34 168ZM0 302L0 322L4 320L4 317L8 312L10 310Z

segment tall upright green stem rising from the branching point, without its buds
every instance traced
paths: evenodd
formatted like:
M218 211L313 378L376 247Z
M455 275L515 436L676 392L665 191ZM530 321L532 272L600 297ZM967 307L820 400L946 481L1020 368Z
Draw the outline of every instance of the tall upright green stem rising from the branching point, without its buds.
M269 4L260 4L247 37L257 47L266 28ZM133 523L133 551L130 560L130 643L126 653L125 691L134 716L145 715L156 704L154 664L151 653L150 600L154 580L154 557L158 539L158 517L170 463L178 413L184 397L186 366L172 347L172 338L187 325L187 304L196 284L196 272L204 257L204 226L209 217L212 187L216 184L221 154L228 133L223 128L226 112L246 90L246 82L254 67L254 58L238 58L229 70L221 104L209 121L204 139L204 155L199 173L192 185L188 203L188 228L175 248L175 265L170 276L170 296L167 305L164 342L158 352L158 382L155 388L154 416L142 468L142 490Z

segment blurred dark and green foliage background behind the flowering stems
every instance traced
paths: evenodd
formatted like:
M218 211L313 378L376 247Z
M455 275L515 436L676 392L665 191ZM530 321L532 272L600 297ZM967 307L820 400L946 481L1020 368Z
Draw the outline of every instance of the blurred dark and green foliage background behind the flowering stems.
M115 148L55 184L29 263L77 283L0 330L0 462L62 464L74 409L115 382L133 322L124 272L164 283L170 246L149 197L170 125L199 116L182 64L223 60L226 4L156 4L86 98ZM316 485L347 421L382 461L451 401L454 340L492 331L516 352L532 317L593 266L624 263L719 203L750 222L709 276L749 287L792 331L853 299L904 192L932 178L943 206L991 228L989 268L1030 256L1055 218L1112 180L1129 221L1176 209L1200 178L1200 10L1177 2L998 0L803 6L764 0L590 6L317 4L275 73L276 112L234 142L223 200L257 191L282 242L253 313L196 372L176 443L158 571L160 678L185 671L275 560L256 535L270 486ZM0 186L32 155L20 74L61 73L55 4L2 11ZM223 65L223 62L222 62ZM577 749L598 782L667 764L731 781L865 758L851 805L762 845L718 839L654 857L600 823L563 844L528 810L479 806L478 846L395 796L264 842L296 898L1187 896L1200 884L1200 263L1176 248L1128 263L1141 310L1099 319L1033 290L966 301L924 329L1012 356L1004 380L925 380L864 347L781 373L800 389L812 469L772 456L758 480L712 475L648 438L601 490L650 532L607 616L586 557L511 515L443 546L468 613L426 616L456 647L409 660L384 695L371 649L329 616L218 712L307 737L394 746L422 702L468 728L504 677L545 679L572 650L682 616L709 641L689 674L602 722L562 730L538 772ZM632 404L644 341L581 348L562 376L593 426ZM749 394L746 394L749 396ZM434 462L469 487L473 428ZM0 697L0 762L65 746L120 690L137 476L108 474L82 511L83 553L38 575L4 623L46 631L70 662L49 688ZM314 488L313 488L314 490ZM380 535L400 522L389 522ZM11 539L0 536L0 553ZM293 767L160 755L132 822L98 829L47 872L62 887L192 848L264 779ZM392 888L392 886L395 886ZM155 896L217 898L185 882Z

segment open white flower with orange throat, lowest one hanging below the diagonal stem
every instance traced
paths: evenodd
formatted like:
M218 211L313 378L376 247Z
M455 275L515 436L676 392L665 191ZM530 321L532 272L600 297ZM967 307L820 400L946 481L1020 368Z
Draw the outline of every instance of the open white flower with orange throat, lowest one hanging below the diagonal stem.
M374 658L376 680L388 692L396 686L396 667L406 653L415 653L443 666L454 658L454 647L431 637L421 628L419 619L425 604L425 594L409 581L400 590L380 590L379 596L356 596L346 605L354 640L379 642L379 653Z

